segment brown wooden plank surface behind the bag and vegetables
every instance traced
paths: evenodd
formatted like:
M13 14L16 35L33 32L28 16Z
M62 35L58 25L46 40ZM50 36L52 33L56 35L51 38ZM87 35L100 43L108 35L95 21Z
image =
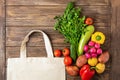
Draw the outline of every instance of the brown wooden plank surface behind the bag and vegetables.
M72 0L0 0L0 80L6 80L7 58L19 57L20 44L33 29L41 29L50 37L53 49L69 47L64 37L53 30L54 16L63 14ZM82 13L94 19L96 31L105 33L105 48L111 59L106 71L94 80L120 79L120 1L74 0ZM28 56L46 56L41 34L33 34L28 44ZM80 80L67 75L67 80Z

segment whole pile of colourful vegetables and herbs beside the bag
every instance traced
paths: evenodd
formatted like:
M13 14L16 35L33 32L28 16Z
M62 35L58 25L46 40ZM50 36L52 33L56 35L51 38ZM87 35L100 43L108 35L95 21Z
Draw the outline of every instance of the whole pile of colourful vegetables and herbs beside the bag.
M69 2L64 14L55 17L54 29L63 34L65 41L70 43L70 49L54 50L54 56L64 56L69 75L79 75L82 80L91 80L95 73L105 71L105 63L110 54L101 47L105 42L104 33L95 31L92 18L80 14L81 9Z

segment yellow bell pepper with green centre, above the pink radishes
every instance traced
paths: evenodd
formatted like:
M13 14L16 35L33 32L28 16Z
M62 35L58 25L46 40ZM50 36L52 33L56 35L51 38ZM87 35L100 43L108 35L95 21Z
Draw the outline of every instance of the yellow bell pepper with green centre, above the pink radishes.
M95 32L92 34L91 40L96 43L103 44L105 41L105 35L102 32Z

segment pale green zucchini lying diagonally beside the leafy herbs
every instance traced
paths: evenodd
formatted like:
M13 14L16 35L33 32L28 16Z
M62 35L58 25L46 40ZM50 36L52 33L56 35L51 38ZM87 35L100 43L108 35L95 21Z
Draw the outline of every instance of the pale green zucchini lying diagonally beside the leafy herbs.
M84 30L85 30L85 33L82 33L79 44L78 44L78 53L77 53L78 56L83 54L84 46L89 41L95 28L93 25L89 25Z

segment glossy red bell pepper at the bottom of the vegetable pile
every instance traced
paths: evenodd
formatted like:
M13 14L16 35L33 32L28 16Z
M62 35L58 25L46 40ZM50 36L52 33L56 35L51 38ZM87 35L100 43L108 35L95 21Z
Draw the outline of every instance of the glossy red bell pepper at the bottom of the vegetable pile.
M95 74L95 70L90 69L90 65L86 64L80 69L80 76L82 80L90 80Z

